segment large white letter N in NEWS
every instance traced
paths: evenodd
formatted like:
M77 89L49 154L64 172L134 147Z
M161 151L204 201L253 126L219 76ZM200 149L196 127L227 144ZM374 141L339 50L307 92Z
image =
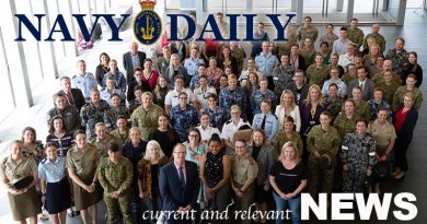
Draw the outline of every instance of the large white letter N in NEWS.
M318 220L327 220L327 193L319 193L319 205L310 193L301 193L301 220L310 220L310 209Z

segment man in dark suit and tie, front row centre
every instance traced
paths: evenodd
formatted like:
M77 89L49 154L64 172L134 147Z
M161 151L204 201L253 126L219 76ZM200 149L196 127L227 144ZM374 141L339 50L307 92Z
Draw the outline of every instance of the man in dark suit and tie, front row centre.
M185 161L185 146L176 144L173 149L174 161L160 169L159 187L163 211L172 212L166 213L168 223L192 223L192 219L196 219L200 179L196 163ZM175 213L183 216L175 219Z

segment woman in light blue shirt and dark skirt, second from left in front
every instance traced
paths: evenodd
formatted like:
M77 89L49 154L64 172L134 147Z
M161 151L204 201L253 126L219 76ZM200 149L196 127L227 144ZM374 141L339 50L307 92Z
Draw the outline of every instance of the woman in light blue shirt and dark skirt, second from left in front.
M47 157L38 164L38 178L43 193L42 201L45 202L50 221L66 223L66 211L71 207L71 191L66 177L66 157L59 157L57 151L55 143L46 143Z

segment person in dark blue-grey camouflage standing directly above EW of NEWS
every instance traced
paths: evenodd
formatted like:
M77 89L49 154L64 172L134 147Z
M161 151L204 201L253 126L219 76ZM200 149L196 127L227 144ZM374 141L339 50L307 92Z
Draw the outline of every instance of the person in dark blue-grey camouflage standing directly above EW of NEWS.
M366 132L368 122L359 119L356 131L347 133L343 141L343 191L363 192L367 176L376 165L376 140Z

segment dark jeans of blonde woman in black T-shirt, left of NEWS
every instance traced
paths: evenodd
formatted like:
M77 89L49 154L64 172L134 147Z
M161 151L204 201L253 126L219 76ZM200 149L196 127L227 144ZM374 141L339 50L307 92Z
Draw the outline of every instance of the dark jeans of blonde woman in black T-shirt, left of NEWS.
M293 198L290 200L285 200L280 198L276 192L273 191L273 197L276 202L276 211L280 212L284 211L286 215L286 209L289 209L290 215L292 219L293 224L300 224L301 223L301 197ZM281 224L282 220L280 219L281 215L277 216L276 224Z

